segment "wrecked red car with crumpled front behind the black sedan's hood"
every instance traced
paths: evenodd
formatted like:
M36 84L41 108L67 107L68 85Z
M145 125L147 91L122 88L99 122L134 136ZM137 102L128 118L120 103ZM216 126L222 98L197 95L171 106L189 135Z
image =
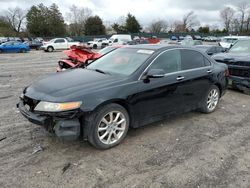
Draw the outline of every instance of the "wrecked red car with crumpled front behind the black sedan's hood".
M68 56L66 59L61 59L58 62L56 68L57 72L61 72L66 69L73 69L79 67L85 67L88 64L89 60L96 60L101 56L122 47L121 45L117 46L108 46L103 48L99 52L94 52L85 46L71 46L70 50L65 50L64 53Z

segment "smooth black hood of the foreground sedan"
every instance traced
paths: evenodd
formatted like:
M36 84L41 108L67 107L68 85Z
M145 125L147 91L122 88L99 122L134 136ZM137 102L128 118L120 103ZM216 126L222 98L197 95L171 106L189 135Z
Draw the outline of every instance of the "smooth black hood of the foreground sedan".
M124 81L124 77L79 68L47 76L30 85L24 94L36 100L72 101Z

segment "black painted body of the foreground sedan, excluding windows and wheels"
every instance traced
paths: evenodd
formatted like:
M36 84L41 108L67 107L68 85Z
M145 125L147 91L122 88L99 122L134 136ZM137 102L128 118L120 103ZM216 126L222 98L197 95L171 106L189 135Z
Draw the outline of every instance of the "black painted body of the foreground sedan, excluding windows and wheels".
M125 48L149 49L154 50L154 53L129 76L103 74L94 70L79 68L55 73L35 82L23 92L23 98L33 101L30 103L31 107L29 107L31 113L37 114L39 117L52 118L56 123L57 120L60 120L60 126L63 128L61 125L63 120L70 124L71 120L76 122L79 117L87 116L102 105L118 103L127 109L131 119L130 126L139 127L161 120L171 114L198 108L211 85L217 85L221 95L226 91L227 78L225 72L227 66L213 61L206 54L202 54L202 57L204 56L205 59L210 61L208 66L168 73L162 78L148 79L144 78L148 67L163 52L172 49L190 49L161 45L138 45ZM183 79L179 79L182 77ZM24 100L23 98L21 98L21 103ZM73 114L69 113L63 116L63 112L55 114L34 111L34 107L39 101L82 101L82 105L80 109L73 111ZM20 107L19 109L20 111L23 110ZM76 123L72 124L71 128L75 130ZM55 125L55 127L58 127L58 125ZM79 128L77 130L80 131ZM75 131L75 135L79 135L79 132Z

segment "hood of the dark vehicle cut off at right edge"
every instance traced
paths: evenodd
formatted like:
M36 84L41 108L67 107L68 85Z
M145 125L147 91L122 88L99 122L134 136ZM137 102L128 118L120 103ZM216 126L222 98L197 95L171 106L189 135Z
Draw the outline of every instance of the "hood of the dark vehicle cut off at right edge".
M218 61L247 61L250 62L249 53L219 53L212 56L213 59Z

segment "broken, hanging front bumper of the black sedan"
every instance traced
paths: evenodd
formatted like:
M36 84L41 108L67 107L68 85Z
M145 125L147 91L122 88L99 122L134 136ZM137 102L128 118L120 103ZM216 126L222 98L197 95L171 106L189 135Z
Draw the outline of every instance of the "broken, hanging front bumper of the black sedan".
M43 126L63 140L77 140L81 134L78 110L60 113L35 113L29 110L23 99L17 104L21 114L30 122Z

